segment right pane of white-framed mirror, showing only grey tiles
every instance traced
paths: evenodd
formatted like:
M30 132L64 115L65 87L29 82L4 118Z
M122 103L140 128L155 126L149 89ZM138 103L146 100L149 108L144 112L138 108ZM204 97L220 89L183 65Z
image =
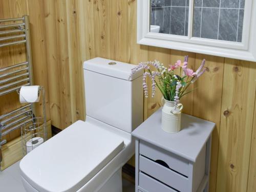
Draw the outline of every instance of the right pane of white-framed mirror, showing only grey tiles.
M245 0L195 0L193 36L242 42Z

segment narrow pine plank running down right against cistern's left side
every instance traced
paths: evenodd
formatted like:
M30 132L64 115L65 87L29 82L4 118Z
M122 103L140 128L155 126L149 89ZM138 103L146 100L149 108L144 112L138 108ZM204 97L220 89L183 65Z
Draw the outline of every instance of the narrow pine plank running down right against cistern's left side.
M83 61L81 60L80 49L80 26L77 0L67 0L67 21L68 21L68 48L69 48L69 69L71 95L71 117L72 122L85 120L84 111L84 83L83 83Z

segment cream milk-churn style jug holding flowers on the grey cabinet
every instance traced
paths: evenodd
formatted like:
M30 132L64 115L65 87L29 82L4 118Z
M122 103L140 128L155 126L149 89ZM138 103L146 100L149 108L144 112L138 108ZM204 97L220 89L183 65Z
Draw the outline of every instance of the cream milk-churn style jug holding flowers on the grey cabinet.
M181 110L183 105L179 103L175 110L175 102L167 101L162 98L164 102L162 109L162 130L167 133L177 133L181 130Z

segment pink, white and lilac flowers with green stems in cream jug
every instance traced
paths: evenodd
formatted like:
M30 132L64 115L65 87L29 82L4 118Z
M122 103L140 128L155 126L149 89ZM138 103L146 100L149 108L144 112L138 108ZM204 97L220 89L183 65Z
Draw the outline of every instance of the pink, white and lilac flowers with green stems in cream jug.
M143 74L143 89L145 97L148 97L148 88L146 83L146 77L150 77L152 80L152 97L155 97L156 87L161 91L164 99L168 101L175 101L175 106L179 103L180 98L184 95L194 91L187 91L191 83L194 83L204 72L203 69L205 59L203 59L201 66L196 72L187 68L188 56L185 56L184 62L177 60L175 65L169 65L169 68L163 66L159 61L141 62L138 66L132 69L134 74L140 69L144 69ZM151 67L154 67L156 71L152 71ZM175 72L179 71L179 74ZM157 78L156 78L157 77Z

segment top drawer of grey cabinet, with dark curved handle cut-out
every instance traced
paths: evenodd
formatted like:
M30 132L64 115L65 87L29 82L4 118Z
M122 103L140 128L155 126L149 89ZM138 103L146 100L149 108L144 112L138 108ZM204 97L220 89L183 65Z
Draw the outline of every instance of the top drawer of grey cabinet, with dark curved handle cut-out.
M143 141L140 141L139 153L154 161L164 161L169 168L184 176L188 176L188 160L182 157Z

